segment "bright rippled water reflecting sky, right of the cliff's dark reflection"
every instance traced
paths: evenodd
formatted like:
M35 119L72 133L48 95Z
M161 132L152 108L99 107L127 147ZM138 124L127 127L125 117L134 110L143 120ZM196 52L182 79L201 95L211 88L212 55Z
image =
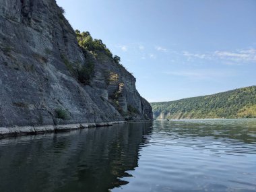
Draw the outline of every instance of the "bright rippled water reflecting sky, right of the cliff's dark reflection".
M256 191L256 120L156 121L116 191Z

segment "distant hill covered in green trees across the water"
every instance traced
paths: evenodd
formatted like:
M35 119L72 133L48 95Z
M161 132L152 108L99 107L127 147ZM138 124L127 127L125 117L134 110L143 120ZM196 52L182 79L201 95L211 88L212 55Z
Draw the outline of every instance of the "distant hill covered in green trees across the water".
M151 105L154 119L253 118L256 86Z

